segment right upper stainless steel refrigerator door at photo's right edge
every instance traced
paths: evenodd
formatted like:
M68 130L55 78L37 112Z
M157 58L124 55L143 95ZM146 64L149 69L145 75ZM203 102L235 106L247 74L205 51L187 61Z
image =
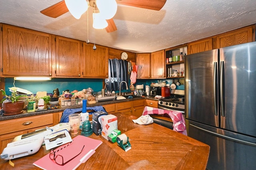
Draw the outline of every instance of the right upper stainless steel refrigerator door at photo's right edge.
M256 137L256 42L220 49L220 127Z

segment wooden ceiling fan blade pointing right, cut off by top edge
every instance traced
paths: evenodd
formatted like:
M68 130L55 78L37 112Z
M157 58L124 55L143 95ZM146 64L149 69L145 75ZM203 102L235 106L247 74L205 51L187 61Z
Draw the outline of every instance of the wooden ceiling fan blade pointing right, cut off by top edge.
M161 10L166 0L117 0L118 4L145 8L150 10Z

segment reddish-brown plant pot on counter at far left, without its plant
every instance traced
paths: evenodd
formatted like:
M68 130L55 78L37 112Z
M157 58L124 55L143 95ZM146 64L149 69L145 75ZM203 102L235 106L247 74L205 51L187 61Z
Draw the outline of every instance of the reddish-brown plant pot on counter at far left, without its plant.
M4 113L8 115L22 113L23 108L24 108L24 101L18 101L15 103L12 103L12 102L3 103Z

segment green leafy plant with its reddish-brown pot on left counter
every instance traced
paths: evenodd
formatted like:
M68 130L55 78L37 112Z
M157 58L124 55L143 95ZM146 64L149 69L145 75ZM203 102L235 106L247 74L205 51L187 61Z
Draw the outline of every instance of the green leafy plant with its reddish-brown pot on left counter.
M4 115L15 115L23 112L22 109L24 108L24 101L18 101L20 96L16 91L12 92L11 96L6 95L6 92L3 89L1 89L1 92L2 95L5 96L5 98L1 100ZM4 102L6 99L11 102Z

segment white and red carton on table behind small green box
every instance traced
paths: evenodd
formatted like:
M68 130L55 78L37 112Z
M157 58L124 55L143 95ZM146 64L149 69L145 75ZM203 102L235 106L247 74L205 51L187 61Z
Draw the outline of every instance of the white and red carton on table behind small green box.
M115 115L105 115L102 117L102 132L101 135L108 140L108 135L117 129L117 117Z

